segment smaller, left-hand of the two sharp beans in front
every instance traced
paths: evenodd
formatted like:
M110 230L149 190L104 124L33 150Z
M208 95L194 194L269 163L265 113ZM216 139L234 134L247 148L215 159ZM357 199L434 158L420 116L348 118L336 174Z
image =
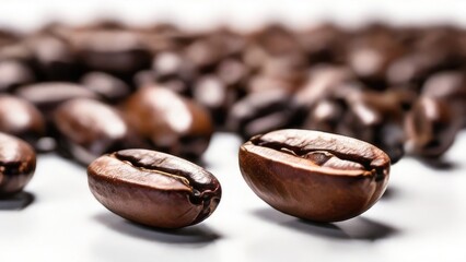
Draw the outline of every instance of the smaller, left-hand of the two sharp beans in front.
M200 223L217 209L221 187L203 168L148 150L104 155L88 168L91 192L109 211L160 228Z

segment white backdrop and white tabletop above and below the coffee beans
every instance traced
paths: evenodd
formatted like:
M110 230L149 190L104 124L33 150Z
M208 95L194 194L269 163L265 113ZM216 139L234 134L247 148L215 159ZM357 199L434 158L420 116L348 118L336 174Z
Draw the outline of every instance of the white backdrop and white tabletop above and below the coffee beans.
M279 20L303 26L330 19L358 25L447 21L466 25L459 1L2 1L0 25L33 29L103 14L140 24L176 21L240 28ZM237 167L241 141L213 138L207 168L222 183L215 213L200 225L161 231L131 224L90 193L85 169L55 155L38 158L23 210L0 210L0 261L465 261L466 133L435 169L416 159L394 165L386 195L353 219L323 226L281 214L259 200ZM14 203L3 203L5 206Z

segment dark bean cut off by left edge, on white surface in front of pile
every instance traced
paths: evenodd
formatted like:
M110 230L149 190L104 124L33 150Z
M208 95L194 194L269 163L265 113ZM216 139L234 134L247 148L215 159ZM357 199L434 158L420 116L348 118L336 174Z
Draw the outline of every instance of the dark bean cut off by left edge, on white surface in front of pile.
M36 153L23 140L0 133L0 198L20 192L36 168Z

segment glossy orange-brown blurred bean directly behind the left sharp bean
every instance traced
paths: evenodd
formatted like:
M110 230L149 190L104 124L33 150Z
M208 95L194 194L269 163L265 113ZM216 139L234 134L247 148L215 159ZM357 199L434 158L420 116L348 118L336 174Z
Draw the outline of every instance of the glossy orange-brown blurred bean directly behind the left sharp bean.
M213 132L206 108L162 86L147 86L125 102L131 126L155 148L188 158L207 150Z

